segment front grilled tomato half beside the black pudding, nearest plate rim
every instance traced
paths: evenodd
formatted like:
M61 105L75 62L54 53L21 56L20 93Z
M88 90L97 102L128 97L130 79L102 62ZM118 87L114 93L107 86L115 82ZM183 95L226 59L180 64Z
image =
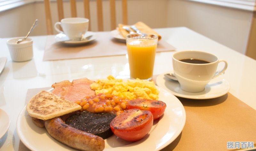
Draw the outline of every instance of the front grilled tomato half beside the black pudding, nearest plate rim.
M152 113L140 109L128 109L116 116L110 123L112 132L127 141L142 139L148 134L152 126Z

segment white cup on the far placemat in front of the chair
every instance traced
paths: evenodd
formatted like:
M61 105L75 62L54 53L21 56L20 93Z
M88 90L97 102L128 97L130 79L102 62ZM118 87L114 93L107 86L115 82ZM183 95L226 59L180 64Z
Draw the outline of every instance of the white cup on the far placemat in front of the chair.
M61 31L58 27L61 26ZM87 18L65 18L60 22L56 22L54 28L57 32L66 34L72 41L80 41L84 34L88 31L89 19Z

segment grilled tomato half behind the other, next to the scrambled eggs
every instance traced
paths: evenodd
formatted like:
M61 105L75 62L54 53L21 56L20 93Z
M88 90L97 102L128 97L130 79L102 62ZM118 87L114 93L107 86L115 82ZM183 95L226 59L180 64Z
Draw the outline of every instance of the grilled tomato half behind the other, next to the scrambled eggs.
M153 114L154 120L164 114L166 104L163 101L135 99L127 102L127 109L148 110Z

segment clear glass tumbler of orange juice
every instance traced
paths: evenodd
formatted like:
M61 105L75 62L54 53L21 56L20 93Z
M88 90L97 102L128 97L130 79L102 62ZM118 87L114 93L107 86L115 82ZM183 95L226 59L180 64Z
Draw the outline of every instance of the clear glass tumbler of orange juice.
M131 79L152 79L157 42L155 34L134 33L126 36Z

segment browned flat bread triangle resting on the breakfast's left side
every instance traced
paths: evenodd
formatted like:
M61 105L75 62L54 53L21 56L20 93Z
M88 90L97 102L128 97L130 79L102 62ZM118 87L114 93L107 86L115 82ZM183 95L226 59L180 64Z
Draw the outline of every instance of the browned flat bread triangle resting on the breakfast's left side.
M28 102L26 109L31 117L47 120L81 108L75 102L68 101L47 91L41 91Z

